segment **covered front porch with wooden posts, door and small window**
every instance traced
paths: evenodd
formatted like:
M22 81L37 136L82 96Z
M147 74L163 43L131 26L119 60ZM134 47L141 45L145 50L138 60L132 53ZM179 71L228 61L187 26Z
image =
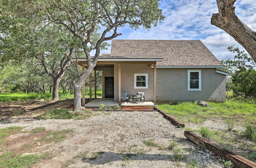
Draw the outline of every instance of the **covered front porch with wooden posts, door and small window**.
M75 61L75 60L74 60ZM87 67L86 58L76 60L84 72ZM162 59L101 59L99 57L94 68L94 100L92 93L92 74L89 76L89 98L85 101L85 82L82 84L82 106L153 106L156 104L156 62ZM97 71L102 71L102 78L97 79ZM102 80L102 98L97 98L97 80ZM138 80L138 81L137 81ZM121 101L121 92L127 95L136 95L137 92L145 93L145 102Z

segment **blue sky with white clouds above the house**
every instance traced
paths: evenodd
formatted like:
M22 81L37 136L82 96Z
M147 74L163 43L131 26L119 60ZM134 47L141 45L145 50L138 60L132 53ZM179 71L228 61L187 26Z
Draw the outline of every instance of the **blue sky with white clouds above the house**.
M234 6L238 17L256 31L255 0L237 0ZM163 0L160 9L165 19L150 31L142 27L135 31L126 25L118 29L122 35L115 39L201 40L219 60L234 57L228 46L244 49L227 33L210 24L212 13L218 13L216 0ZM110 53L110 48L101 53Z

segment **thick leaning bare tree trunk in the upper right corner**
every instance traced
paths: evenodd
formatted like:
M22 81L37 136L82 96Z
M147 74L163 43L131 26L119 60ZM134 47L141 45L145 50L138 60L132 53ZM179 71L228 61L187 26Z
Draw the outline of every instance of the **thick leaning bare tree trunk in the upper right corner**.
M237 17L234 2L236 0L217 0L219 13L212 14L211 24L232 36L256 62L256 32Z

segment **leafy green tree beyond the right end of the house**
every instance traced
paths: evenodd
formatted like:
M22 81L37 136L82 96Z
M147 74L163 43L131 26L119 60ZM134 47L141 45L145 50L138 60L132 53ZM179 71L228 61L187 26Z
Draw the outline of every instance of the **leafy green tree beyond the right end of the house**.
M229 87L233 91L233 95L255 98L256 70L254 68L256 64L245 51L241 51L238 47L229 46L228 49L230 52L236 53L234 59L222 61L231 78Z

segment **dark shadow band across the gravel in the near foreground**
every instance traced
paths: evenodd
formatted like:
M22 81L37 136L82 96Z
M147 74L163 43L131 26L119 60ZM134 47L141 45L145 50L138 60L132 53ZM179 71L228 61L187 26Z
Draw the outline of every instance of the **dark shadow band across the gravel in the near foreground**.
M183 154L184 158L188 157L188 154ZM114 152L98 152L97 157L83 158L83 162L90 164L105 164L113 161L128 161L128 160L148 160L148 161L177 161L176 155L170 154L137 154L137 153L114 153ZM185 163L185 159L179 160Z

